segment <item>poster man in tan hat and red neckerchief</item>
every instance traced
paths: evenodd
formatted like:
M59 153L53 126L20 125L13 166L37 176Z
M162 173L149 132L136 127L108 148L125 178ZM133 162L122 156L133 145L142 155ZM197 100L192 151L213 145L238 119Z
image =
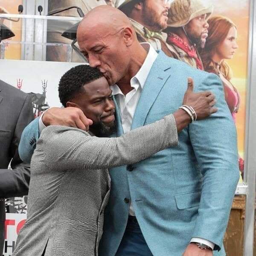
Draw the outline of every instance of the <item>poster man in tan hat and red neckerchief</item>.
M204 48L208 36L207 20L213 6L201 0L174 0L168 13L167 43L178 59L204 70L198 48Z

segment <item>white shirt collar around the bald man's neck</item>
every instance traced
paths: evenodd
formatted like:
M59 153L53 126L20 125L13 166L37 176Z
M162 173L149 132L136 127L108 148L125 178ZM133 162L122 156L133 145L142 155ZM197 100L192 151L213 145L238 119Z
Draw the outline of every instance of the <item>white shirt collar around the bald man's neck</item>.
M145 61L143 62L143 65L140 67L140 70L138 73L131 78L131 87L134 87L135 90L139 88L143 88L145 81L148 77L148 74L151 70L151 67L154 63L154 61L157 58L157 52L154 50L154 48L149 43L140 43L141 46L148 52L147 57L145 58ZM112 94L123 94L120 88L117 84L114 84L111 86Z

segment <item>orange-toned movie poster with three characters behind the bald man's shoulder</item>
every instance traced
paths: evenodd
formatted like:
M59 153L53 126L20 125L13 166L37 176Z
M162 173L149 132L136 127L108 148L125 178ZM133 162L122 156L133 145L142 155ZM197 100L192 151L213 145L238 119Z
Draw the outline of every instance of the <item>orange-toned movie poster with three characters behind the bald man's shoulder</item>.
M145 1L140 12L142 4L120 0L116 6L130 17L139 41L220 77L238 132L239 182L243 182L250 1Z

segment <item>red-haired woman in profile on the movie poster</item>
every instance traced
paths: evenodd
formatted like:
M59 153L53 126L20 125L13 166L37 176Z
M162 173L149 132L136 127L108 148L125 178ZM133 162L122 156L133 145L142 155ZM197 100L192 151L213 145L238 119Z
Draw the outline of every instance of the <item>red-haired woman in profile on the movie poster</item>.
M215 73L222 80L225 99L233 120L236 122L240 96L230 81L232 70L225 60L232 59L238 48L237 28L232 20L224 16L210 17L207 22L209 24L208 38L204 49L201 49L200 56L205 71ZM239 157L239 169L241 172L244 170L244 160L241 157Z

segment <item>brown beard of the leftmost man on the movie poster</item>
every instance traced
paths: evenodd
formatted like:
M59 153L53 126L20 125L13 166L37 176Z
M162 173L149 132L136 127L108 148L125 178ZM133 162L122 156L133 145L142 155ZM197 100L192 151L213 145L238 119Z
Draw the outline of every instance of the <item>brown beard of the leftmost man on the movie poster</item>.
M160 32L167 27L167 23L161 23L161 15L158 15L154 9L148 6L143 8L142 18L144 23L146 27L153 32Z

